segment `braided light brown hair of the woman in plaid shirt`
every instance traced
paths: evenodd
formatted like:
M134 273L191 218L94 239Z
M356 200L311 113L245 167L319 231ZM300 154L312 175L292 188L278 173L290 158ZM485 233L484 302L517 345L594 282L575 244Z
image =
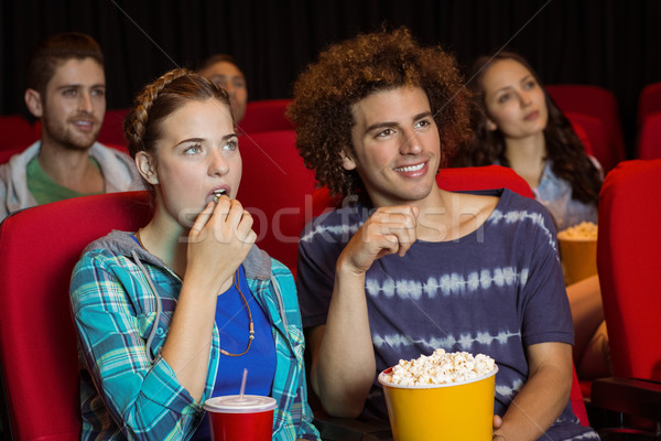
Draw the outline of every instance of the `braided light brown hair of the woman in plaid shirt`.
M136 158L139 151L154 153L154 143L161 137L161 122L184 104L207 99L217 99L231 111L227 92L188 69L170 71L145 86L124 119L131 157Z

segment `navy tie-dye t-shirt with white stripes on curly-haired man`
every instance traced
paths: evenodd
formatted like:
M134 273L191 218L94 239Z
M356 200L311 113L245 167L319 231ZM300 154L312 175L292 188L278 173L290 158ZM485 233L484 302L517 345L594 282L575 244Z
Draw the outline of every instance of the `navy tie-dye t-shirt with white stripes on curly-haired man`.
M549 213L509 190L475 194L500 196L483 225L457 240L418 240L404 257L382 257L367 272L365 291L378 372L437 347L487 354L499 368L495 413L503 415L528 378L525 347L573 344L572 315ZM305 327L326 322L337 257L369 214L359 204L335 209L301 235L296 283ZM388 417L376 377L364 413ZM598 437L567 402L543 439Z

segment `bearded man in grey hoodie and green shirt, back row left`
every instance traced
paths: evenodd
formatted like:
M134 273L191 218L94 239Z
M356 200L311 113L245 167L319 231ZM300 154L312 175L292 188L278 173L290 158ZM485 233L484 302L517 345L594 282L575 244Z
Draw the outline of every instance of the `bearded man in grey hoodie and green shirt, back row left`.
M71 197L142 190L133 160L97 142L106 112L104 54L89 35L47 36L28 64L25 105L42 138L0 166L0 220Z

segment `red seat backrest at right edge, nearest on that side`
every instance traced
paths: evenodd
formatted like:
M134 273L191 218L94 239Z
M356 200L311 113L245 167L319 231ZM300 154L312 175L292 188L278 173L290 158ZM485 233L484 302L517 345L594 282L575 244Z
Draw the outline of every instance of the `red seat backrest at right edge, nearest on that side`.
M661 160L635 160L608 173L599 194L597 268L616 377L661 380L660 187Z

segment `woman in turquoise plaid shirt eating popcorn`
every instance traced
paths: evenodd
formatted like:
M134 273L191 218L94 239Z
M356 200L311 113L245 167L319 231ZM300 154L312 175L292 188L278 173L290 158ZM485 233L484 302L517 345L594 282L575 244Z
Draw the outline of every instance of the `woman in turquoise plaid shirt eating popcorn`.
M185 69L147 86L124 122L154 213L90 244L71 293L83 439L209 439L213 396L275 398L273 440L318 440L291 272L254 246L236 200L241 157L227 93Z

